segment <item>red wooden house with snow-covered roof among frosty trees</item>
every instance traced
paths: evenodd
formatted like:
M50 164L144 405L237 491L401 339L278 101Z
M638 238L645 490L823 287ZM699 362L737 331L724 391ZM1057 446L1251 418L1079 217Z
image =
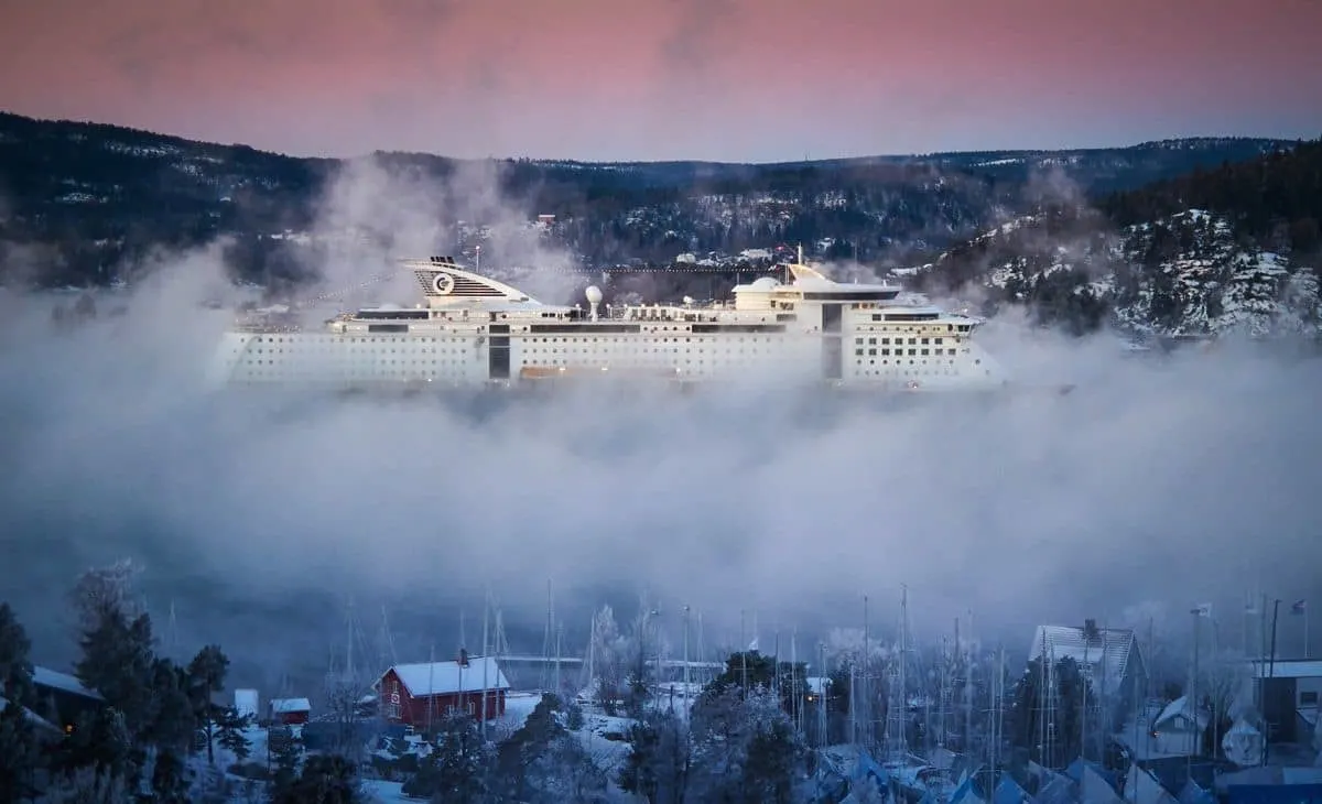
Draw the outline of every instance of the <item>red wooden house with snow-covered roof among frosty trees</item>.
M452 711L479 719L501 717L509 680L494 657L460 651L456 661L397 664L374 686L386 721L431 731Z

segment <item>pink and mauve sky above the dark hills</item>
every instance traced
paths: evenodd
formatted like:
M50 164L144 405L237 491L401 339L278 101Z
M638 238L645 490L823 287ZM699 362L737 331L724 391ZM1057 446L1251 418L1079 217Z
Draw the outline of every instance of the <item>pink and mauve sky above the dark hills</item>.
M0 108L332 156L1315 138L1319 30L1318 0L0 0Z

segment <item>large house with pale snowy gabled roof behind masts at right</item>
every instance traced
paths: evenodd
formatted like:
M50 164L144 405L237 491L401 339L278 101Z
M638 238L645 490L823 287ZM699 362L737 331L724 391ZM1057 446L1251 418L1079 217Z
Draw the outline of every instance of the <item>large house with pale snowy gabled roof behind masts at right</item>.
M1118 729L1147 689L1147 663L1129 628L1099 628L1097 620L1073 625L1039 625L1029 660L1046 655L1054 661L1072 659L1091 680L1113 729Z

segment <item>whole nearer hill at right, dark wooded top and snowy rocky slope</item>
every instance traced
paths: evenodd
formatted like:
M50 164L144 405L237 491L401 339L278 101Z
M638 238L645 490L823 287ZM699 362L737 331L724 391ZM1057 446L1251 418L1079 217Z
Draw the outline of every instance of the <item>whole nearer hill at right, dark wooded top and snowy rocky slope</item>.
M1014 218L915 280L1075 331L1305 335L1322 311L1322 140Z

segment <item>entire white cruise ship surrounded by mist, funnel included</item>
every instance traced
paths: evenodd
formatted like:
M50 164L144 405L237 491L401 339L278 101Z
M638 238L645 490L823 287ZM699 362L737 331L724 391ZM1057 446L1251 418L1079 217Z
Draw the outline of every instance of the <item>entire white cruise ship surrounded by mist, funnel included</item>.
M212 365L219 386L340 390L531 386L580 378L825 383L875 391L1006 383L976 340L978 319L894 284L841 283L806 264L739 284L732 302L543 304L452 257L403 261L423 300L342 312L313 328L249 313Z

